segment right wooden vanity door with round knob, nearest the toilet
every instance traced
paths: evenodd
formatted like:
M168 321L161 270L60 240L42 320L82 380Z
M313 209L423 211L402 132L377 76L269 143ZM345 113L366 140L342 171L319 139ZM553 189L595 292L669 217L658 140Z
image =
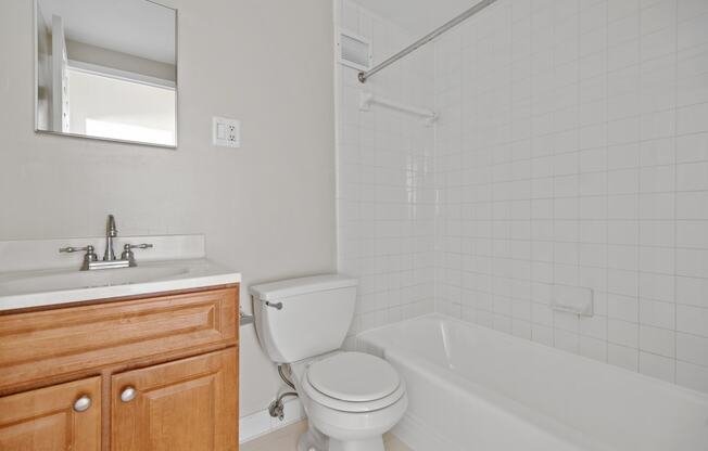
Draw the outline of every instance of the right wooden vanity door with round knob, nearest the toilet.
M112 451L238 450L238 348L113 376Z

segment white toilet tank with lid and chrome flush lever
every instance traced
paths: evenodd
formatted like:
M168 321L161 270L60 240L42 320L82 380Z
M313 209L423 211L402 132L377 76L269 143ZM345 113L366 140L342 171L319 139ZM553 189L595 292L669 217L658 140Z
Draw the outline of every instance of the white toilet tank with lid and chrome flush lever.
M357 280L341 274L251 286L261 347L277 363L339 349L346 337Z

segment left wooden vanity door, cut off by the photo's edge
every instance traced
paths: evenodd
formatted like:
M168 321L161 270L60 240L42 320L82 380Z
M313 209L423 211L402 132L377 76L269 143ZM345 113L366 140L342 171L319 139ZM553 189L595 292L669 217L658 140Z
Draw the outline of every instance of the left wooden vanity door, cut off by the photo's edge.
M0 450L100 449L100 377L0 398Z

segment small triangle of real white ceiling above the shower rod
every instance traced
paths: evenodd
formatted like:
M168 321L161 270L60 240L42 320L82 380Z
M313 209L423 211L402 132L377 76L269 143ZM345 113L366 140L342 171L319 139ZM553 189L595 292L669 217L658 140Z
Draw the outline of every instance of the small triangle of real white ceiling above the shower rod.
M479 0L353 0L416 35L426 35Z

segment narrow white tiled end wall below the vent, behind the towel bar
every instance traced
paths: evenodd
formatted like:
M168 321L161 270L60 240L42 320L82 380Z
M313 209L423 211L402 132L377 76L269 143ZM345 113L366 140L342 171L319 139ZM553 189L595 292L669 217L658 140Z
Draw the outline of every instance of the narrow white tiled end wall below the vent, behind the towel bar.
M341 26L380 62L413 35L350 1ZM359 83L338 64L339 269L359 279L351 334L433 310L433 128L405 113L359 111L362 90L432 106L432 48Z

